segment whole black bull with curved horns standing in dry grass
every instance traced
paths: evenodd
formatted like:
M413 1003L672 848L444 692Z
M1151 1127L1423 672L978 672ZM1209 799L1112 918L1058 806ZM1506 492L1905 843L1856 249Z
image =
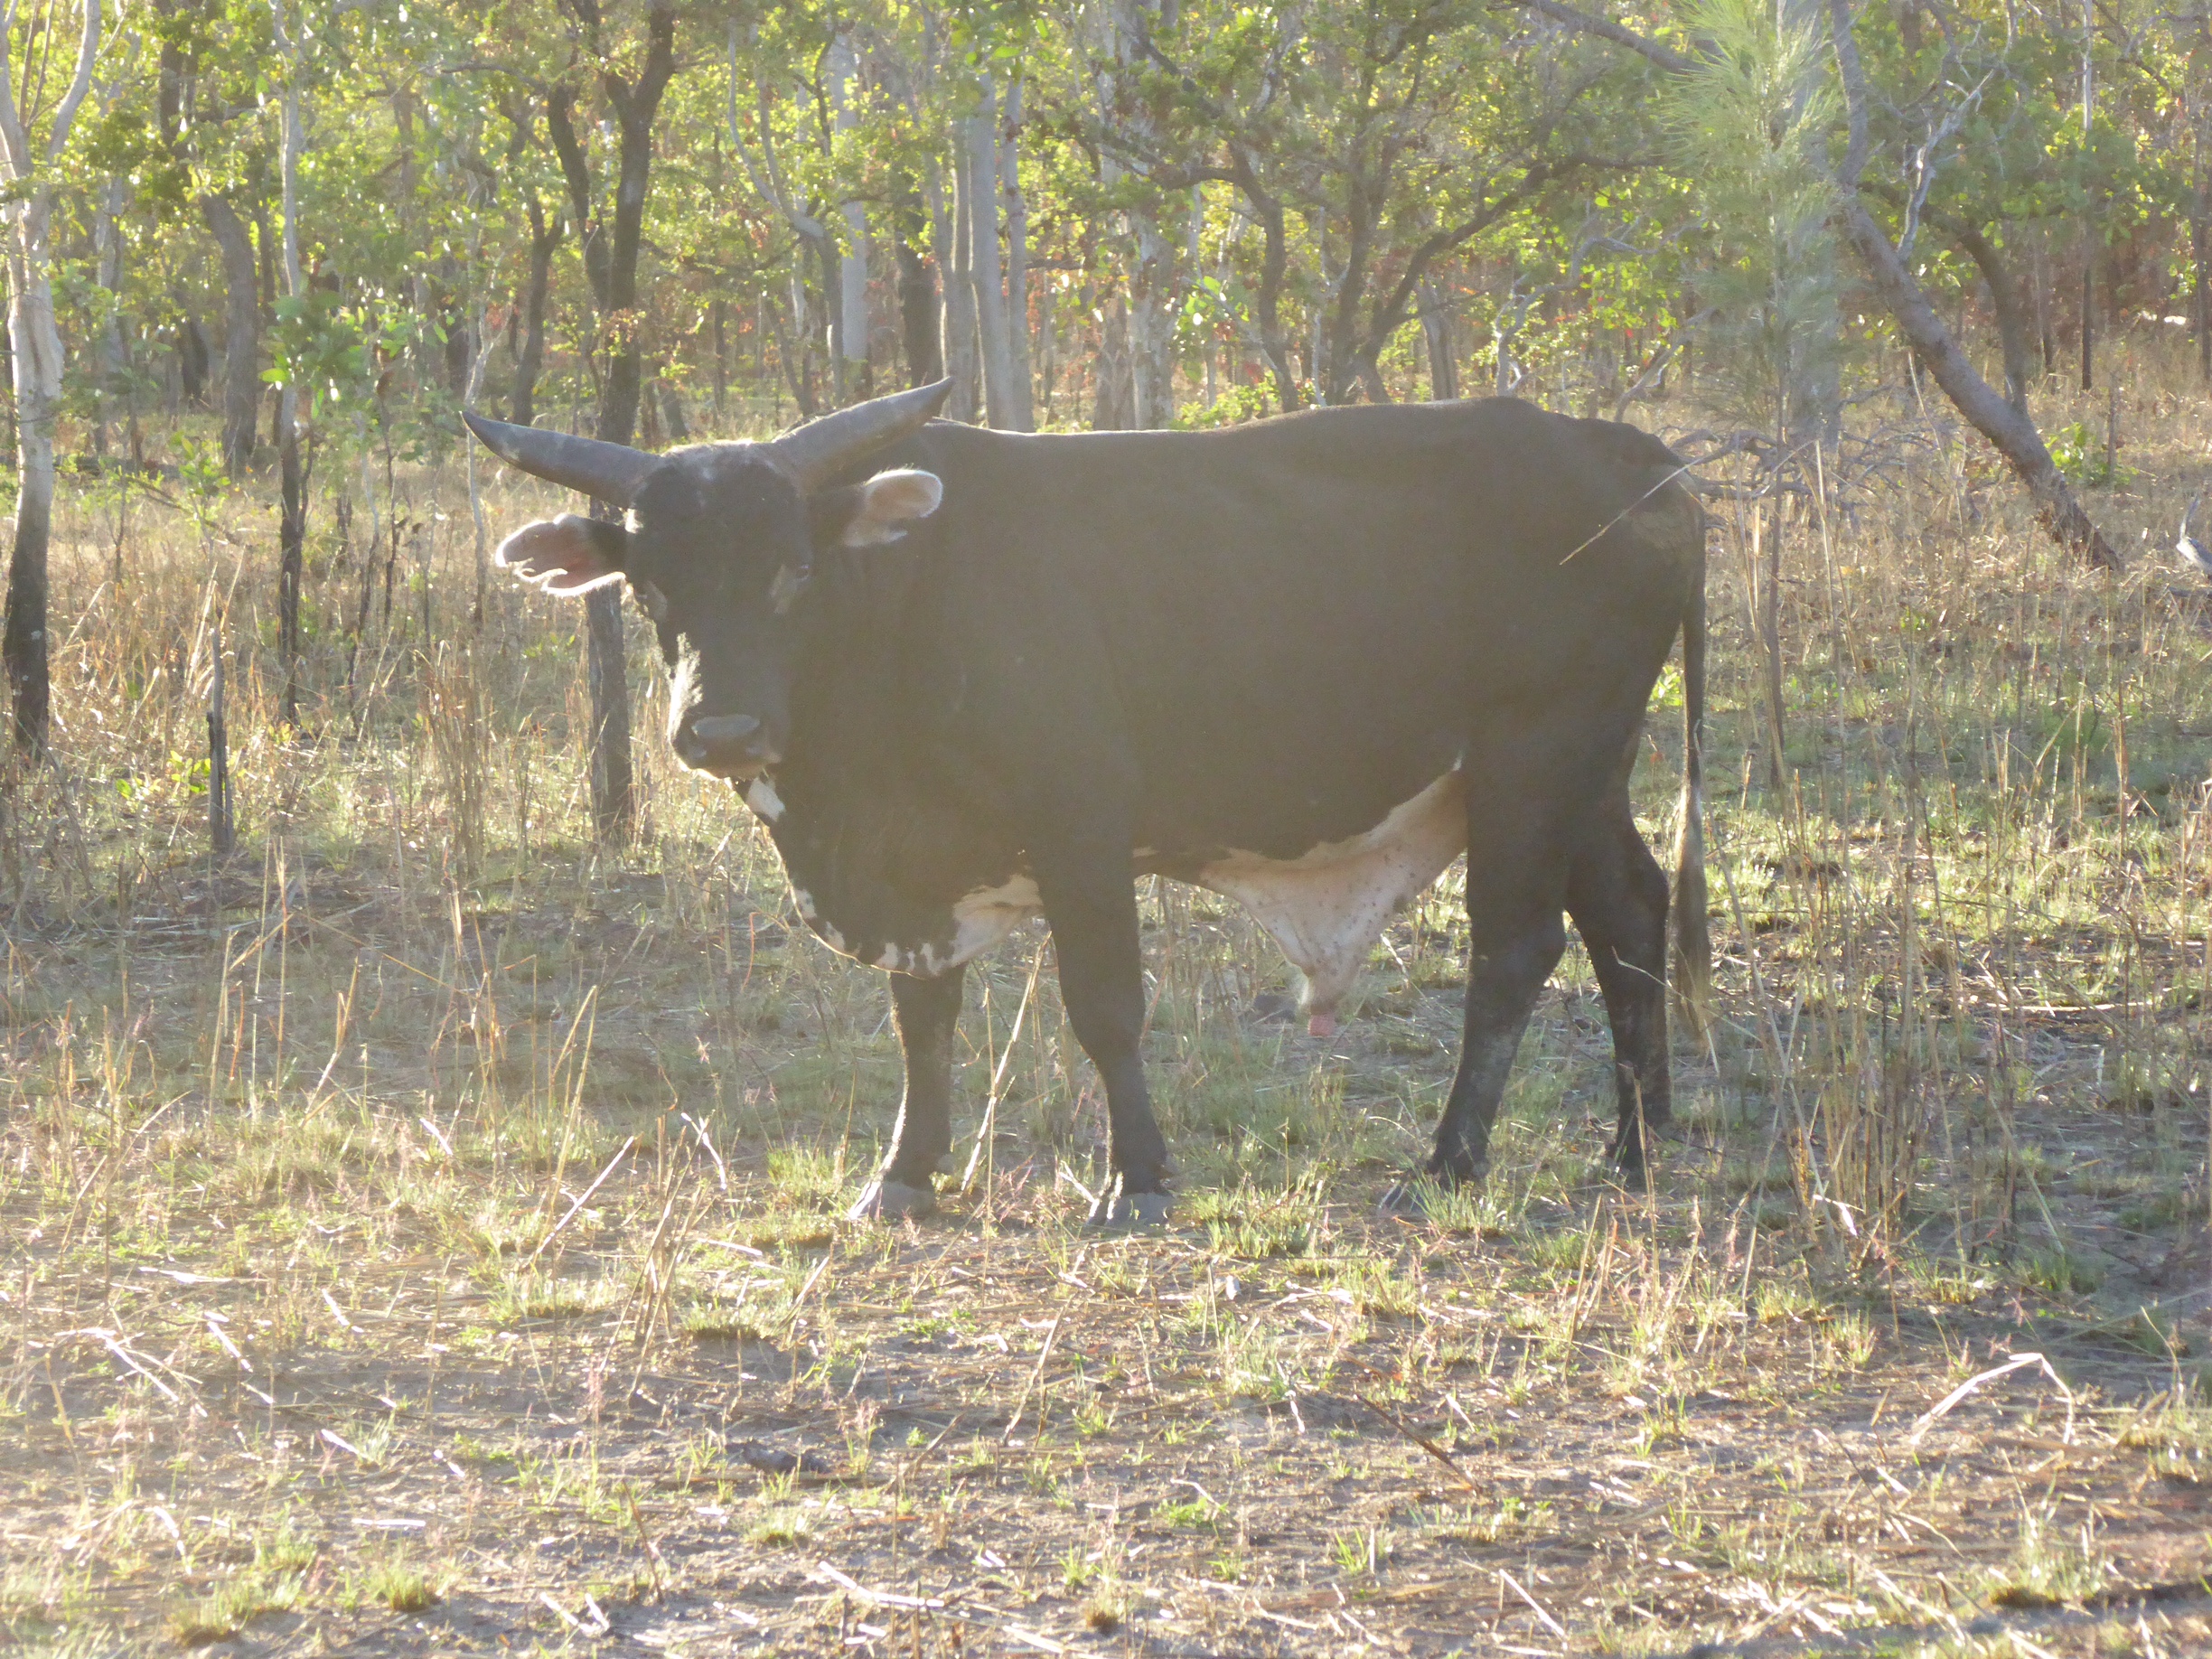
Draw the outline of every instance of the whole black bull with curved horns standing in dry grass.
M1639 1179L1670 1115L1668 883L1628 772L1677 633L1692 1004L1708 964L1703 515L1674 453L1504 398L1020 436L931 422L942 396L668 456L469 420L630 509L524 526L500 562L553 593L628 580L677 757L743 785L823 940L891 969L905 1102L856 1214L933 1203L962 964L1024 916L1051 922L1106 1082L1093 1219L1157 1221L1133 876L1248 905L1327 1029L1391 909L1460 849L1467 1026L1427 1175L1480 1179L1566 911L1613 1022L1613 1157Z

